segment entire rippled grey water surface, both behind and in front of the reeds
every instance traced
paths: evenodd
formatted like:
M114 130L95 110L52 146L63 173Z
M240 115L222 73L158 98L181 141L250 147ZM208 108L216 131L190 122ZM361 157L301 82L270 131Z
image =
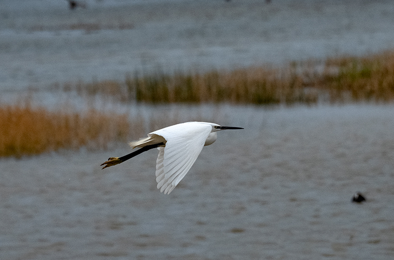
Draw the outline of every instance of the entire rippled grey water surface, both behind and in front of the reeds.
M155 150L105 170L130 149L0 158L0 259L393 259L393 105L146 106L25 92L364 55L393 47L391 1L0 3L0 102L28 95L50 109L245 128L220 132L169 195L156 188ZM351 203L357 191L366 203Z

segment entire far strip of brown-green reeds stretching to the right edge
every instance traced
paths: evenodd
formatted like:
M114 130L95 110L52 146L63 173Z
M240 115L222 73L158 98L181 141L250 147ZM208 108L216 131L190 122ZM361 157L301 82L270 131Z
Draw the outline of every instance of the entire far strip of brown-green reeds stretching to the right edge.
M314 104L319 101L394 100L394 51L366 57L328 58L283 68L249 67L206 73L157 71L134 74L125 82L67 84L81 95L102 95L122 102Z

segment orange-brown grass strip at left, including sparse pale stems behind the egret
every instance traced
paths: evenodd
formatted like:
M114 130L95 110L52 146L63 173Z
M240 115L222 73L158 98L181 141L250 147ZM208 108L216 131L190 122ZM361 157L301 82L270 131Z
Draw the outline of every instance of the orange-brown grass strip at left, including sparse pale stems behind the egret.
M31 97L17 105L0 104L0 157L22 157L62 149L107 149L127 144L146 133L185 120L215 121L194 111L187 115L161 111L140 115L96 109L49 110L32 105Z

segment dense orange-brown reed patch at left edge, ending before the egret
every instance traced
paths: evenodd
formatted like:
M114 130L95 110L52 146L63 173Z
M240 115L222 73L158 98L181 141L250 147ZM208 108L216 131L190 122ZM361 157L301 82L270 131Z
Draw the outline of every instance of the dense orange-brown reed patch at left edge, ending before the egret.
M105 148L111 142L126 141L129 128L126 114L1 105L0 156L20 157L82 146Z

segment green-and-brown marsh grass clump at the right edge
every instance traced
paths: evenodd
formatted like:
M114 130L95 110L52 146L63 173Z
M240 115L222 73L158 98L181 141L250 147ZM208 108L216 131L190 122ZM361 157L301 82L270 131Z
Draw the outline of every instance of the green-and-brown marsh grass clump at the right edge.
M330 92L332 100L393 101L394 51L328 59L317 82Z

